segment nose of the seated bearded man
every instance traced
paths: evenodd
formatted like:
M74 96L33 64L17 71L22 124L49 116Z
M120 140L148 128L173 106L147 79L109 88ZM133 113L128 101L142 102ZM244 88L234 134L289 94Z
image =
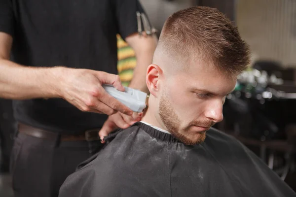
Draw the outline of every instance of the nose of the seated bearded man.
M205 110L205 116L215 123L219 123L223 120L223 103L221 100L214 100L209 103Z

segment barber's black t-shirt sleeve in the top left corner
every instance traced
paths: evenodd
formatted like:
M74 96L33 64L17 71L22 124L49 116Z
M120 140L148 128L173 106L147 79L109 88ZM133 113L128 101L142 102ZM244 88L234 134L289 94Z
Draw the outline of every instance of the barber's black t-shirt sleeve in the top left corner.
M0 0L0 32L14 33L14 15L11 0Z

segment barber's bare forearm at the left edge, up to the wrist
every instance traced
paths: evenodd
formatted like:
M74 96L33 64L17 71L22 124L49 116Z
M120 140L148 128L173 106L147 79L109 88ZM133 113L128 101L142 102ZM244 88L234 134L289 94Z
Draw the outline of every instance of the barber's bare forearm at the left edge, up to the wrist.
M56 98L58 67L43 68L15 64L0 59L0 98Z

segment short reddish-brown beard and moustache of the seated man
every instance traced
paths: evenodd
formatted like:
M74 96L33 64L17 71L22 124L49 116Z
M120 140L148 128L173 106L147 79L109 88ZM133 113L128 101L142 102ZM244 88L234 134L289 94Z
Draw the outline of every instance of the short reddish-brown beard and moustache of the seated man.
M190 132L192 126L200 127L212 127L215 123L212 121L192 121L185 128L180 128L181 120L173 109L170 101L167 99L165 94L162 94L159 99L158 114L167 128L167 130L181 142L186 145L195 145L203 142L206 139L206 131L202 132Z

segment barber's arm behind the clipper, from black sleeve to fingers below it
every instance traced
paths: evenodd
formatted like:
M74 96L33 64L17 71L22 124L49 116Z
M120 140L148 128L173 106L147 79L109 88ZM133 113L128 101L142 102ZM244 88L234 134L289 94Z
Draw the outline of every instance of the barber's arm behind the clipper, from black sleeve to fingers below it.
M147 35L144 26L140 31L143 31L142 35L138 34L138 30L141 27L138 27L137 13L146 15L139 0L113 0L113 2L118 32L129 46L133 48L137 59L137 66L134 69L133 79L129 87L148 93L146 72L148 66L152 63L153 53L157 44L156 35ZM145 22L142 23L144 25ZM109 116L99 132L101 139L117 128L126 129L135 122L140 121L141 115L142 113L134 112L132 116L122 113Z

